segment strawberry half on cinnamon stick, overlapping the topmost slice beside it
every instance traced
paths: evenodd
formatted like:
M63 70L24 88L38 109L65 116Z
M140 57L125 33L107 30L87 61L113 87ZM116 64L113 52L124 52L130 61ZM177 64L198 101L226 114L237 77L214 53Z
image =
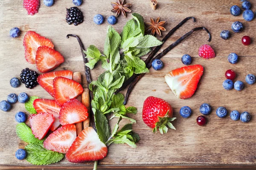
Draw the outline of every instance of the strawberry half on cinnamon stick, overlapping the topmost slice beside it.
M81 95L84 91L78 82L64 77L56 77L53 80L53 88L54 99L61 106L68 100Z

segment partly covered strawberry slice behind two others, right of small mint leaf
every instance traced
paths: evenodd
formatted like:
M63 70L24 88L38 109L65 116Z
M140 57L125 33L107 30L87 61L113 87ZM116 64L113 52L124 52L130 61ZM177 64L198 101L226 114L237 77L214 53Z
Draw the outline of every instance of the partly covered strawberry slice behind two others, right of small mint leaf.
M50 128L51 131L56 130L61 125L58 119L61 106L55 100L35 99L33 106L37 113L51 113L54 116L54 123Z

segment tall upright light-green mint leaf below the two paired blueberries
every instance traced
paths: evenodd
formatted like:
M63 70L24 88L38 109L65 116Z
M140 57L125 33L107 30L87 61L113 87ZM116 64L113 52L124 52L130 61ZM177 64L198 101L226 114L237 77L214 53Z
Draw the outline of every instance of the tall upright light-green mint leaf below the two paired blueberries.
M119 45L121 37L114 28L108 26L108 34L104 45L104 55L108 61L102 62L102 67L112 72L120 60Z

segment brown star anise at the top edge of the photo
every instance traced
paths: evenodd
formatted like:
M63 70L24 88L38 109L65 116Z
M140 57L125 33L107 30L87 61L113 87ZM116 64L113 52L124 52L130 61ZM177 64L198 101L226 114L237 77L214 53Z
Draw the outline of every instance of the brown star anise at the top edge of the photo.
M113 6L111 12L116 12L116 17L118 17L120 13L126 17L125 12L131 12L131 9L129 9L131 7L131 3L125 3L125 0L122 3L120 3L119 0L116 0L116 3L111 3L111 5Z

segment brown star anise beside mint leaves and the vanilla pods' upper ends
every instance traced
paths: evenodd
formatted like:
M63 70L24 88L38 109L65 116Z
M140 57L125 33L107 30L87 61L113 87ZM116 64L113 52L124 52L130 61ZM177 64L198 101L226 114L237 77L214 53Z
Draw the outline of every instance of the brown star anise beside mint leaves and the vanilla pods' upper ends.
M166 29L163 27L166 24L166 21L160 21L160 17L158 17L156 21L150 17L150 21L151 23L146 23L148 25L146 31L151 31L152 35L157 33L157 35L161 37L161 31L166 31Z

